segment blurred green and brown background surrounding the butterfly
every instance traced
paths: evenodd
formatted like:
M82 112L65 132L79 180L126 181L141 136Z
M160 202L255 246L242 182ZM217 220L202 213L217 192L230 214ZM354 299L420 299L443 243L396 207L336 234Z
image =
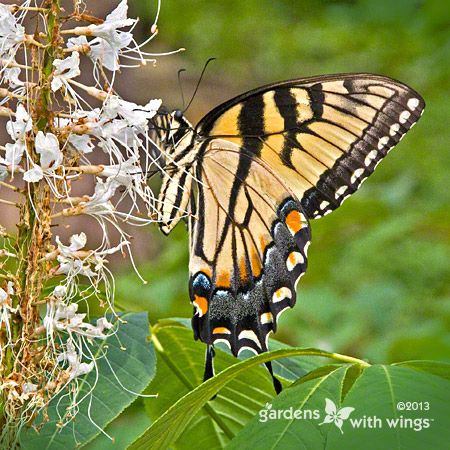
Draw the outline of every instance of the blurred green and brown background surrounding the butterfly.
M129 3L144 37L155 5ZM160 35L149 49L186 52L158 57L138 80L145 92L122 76L128 97L161 96L181 107L177 70L188 69L183 88L189 97L214 56L187 114L194 122L247 89L325 73L388 75L427 103L418 125L370 181L312 223L308 273L278 339L371 362L450 358L449 23L448 5L440 0L162 1ZM150 311L153 322L190 317L185 227L168 238L154 228L138 240L148 248L138 257L148 284L122 271L119 302Z

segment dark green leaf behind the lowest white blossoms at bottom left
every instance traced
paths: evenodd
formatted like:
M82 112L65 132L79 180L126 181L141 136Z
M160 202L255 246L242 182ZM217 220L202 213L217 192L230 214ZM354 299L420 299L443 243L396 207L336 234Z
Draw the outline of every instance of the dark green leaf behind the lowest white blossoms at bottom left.
M97 360L98 380L92 371L78 379L78 398L92 394L80 403L76 419L64 428L58 427L59 415L68 406L67 391L54 398L49 405L49 421L40 432L28 428L22 432L21 448L26 450L59 450L80 447L116 418L149 384L155 374L156 357L149 342L146 313L124 314L115 335L91 347L93 354L106 352ZM114 371L114 372L113 372Z

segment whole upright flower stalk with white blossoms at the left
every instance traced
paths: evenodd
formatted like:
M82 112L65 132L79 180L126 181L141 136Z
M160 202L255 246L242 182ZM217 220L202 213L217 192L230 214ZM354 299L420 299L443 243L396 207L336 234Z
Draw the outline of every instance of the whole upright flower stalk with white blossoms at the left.
M45 420L61 392L71 403L60 426L76 416L79 380L97 370L92 348L120 325L108 258L126 255L135 268L122 227L155 221L147 177L160 167L150 120L161 101L137 105L114 89L130 67L123 61L142 66L154 55L136 43L126 0L105 19L73 5L62 18L60 0L0 3L0 116L9 136L0 145L0 209L15 207L19 216L16 234L0 224L0 448L14 448L18 430L35 426L39 413ZM33 34L23 25L28 12ZM155 23L145 42L156 32ZM78 80L81 58L92 85ZM73 195L75 185L84 192ZM82 228L54 235L72 229L73 216L94 219L97 247ZM105 314L94 322L83 312L91 302Z

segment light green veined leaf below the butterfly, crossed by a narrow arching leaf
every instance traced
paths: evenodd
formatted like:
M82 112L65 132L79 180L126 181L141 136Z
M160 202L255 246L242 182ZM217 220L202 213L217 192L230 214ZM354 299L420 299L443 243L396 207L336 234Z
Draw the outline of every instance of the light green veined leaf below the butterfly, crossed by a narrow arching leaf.
M160 417L180 397L203 381L205 345L194 341L192 330L165 322L153 329L163 352L158 354L156 377L146 390L157 393L145 401L152 420ZM219 349L214 358L216 372L236 363L236 358ZM262 405L275 395L271 377L262 367L252 367L224 387L214 401L197 414L173 445L177 449L218 448L233 437Z

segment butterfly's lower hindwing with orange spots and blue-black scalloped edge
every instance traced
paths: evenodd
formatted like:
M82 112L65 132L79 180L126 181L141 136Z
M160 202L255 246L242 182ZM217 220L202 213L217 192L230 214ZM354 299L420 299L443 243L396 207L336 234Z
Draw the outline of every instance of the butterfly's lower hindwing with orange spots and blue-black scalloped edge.
M244 165L247 176L236 175ZM306 270L310 235L301 205L264 162L219 139L199 162L197 179L190 262L196 337L225 342L234 354L266 351Z

